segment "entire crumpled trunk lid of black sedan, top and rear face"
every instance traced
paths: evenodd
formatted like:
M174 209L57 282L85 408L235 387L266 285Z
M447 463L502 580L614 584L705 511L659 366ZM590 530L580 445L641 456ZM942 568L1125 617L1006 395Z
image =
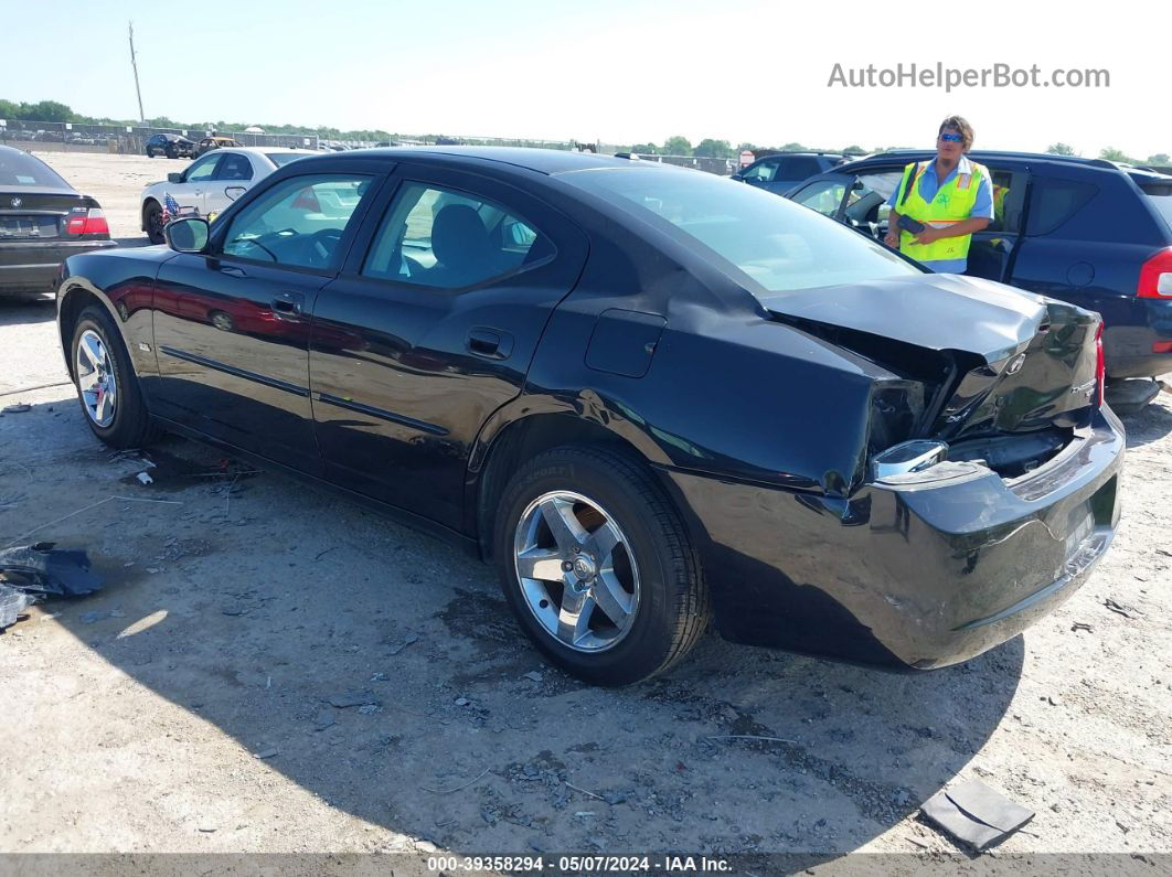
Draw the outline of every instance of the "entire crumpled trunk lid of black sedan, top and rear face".
M1098 317L1002 283L924 274L761 301L775 320L904 379L877 399L871 453L918 438L955 447L1031 433L1035 457L1049 437L1044 457L1069 441L1096 402Z

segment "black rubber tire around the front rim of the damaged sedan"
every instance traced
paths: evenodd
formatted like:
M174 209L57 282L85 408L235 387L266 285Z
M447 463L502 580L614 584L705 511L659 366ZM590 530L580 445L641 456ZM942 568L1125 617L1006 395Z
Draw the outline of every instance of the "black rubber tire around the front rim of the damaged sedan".
M79 385L77 375L77 345L82 335L87 330L97 333L102 343L109 352L113 365L115 386L114 419L108 426L100 426L86 405ZM145 447L162 434L162 430L151 420L143 402L142 389L138 385L138 376L130 364L130 356L127 347L122 343L122 335L109 313L101 306L91 304L82 310L74 327L73 340L69 343L69 370L73 375L74 386L77 389L77 402L82 407L82 417L102 441L111 447Z

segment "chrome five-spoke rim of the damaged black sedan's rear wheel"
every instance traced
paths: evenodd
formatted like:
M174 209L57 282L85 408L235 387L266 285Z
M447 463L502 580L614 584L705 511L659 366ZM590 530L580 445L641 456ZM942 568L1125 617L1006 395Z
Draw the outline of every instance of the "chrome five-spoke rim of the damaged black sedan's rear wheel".
M631 630L639 569L598 502L567 491L534 499L517 523L513 563L529 610L570 649L605 651Z

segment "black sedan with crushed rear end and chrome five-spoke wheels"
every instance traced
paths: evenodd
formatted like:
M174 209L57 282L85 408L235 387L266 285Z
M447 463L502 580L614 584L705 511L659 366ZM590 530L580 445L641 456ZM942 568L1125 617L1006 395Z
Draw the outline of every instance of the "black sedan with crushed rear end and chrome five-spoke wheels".
M727 638L970 658L1115 533L1095 314L709 174L519 149L294 162L57 293L90 429L173 431L499 569L624 684Z

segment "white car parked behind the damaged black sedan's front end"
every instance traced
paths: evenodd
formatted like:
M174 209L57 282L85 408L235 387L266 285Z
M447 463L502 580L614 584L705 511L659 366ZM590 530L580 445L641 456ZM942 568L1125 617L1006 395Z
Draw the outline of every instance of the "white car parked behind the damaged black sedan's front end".
M142 229L151 244L163 242L163 226L178 217L214 219L232 201L289 162L315 156L306 149L217 149L197 158L182 173L169 173L142 194Z

